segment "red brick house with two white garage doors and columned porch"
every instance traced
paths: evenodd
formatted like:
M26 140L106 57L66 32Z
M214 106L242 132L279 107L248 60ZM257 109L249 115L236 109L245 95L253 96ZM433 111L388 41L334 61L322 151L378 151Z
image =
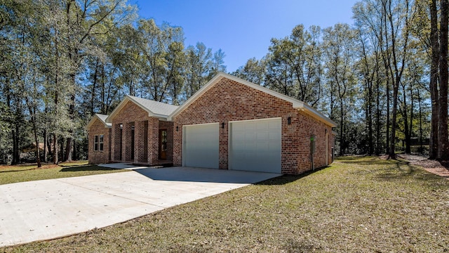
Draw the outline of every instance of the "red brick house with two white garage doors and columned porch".
M111 161L161 163L158 140L164 128L170 140L167 160L175 166L300 174L332 162L335 122L300 100L229 74L217 74L183 105L169 105L159 117L154 108L142 108L158 103L148 101L127 96L105 119L112 123ZM91 131L89 138L95 145ZM130 139L139 143L134 154L123 145ZM91 149L89 162L90 157Z

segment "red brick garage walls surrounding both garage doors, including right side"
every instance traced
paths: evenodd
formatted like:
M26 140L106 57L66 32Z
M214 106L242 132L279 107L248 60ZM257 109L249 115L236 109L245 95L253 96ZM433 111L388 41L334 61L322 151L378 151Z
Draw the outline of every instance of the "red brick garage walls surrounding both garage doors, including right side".
M173 131L173 164L182 165L183 125L220 122L219 168L227 169L228 122L272 117L282 119L281 168L283 174L300 174L311 169L311 134L317 136L315 167L326 166L326 131L330 134L330 126L294 109L286 100L226 78L218 81L173 119L173 129L178 128L178 131ZM290 125L287 123L288 117L291 117ZM225 123L225 129L221 128L222 122ZM330 138L328 140L330 141Z

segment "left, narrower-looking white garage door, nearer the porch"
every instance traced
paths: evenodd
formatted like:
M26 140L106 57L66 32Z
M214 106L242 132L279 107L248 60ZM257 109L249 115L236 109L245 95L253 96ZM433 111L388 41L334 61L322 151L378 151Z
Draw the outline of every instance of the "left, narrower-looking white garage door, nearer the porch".
M218 169L218 131L218 123L183 126L183 166Z

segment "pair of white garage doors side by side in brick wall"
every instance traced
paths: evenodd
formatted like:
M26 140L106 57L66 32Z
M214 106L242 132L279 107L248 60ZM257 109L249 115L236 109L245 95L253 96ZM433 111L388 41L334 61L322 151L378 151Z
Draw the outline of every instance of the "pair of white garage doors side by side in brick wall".
M220 131L218 122L183 126L183 166L217 169ZM281 173L281 118L229 122L228 147L229 169Z

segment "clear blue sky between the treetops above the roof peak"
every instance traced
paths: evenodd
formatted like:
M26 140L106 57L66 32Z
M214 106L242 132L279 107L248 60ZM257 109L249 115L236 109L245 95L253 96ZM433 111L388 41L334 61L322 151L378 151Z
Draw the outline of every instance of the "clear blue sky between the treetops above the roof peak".
M270 39L283 38L295 25L352 24L356 0L134 0L143 18L180 26L185 45L203 42L225 52L227 71L268 52Z

